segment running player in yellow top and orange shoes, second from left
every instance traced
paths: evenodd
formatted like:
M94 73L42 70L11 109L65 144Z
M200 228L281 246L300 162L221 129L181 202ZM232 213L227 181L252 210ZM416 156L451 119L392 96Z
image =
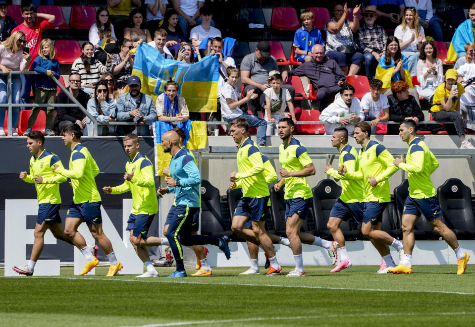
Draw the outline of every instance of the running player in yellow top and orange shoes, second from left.
M73 202L66 213L64 232L86 259L86 265L80 275L90 272L99 265L99 260L94 258L84 237L78 232L79 225L86 222L91 235L109 259L110 267L106 276L115 276L122 269L122 264L115 258L112 244L102 229L101 195L94 179L99 174L99 167L88 149L81 144L79 125L65 126L62 140L64 145L71 149L69 169L56 163L53 166L53 171L71 179Z

